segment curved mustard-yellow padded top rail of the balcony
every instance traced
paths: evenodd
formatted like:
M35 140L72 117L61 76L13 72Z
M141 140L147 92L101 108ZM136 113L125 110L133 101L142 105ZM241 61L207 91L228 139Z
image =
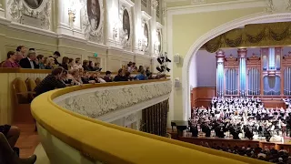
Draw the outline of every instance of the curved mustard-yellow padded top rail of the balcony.
M53 102L55 97L86 88L142 83L146 85L146 83L166 80L168 79L56 89L35 97L31 105L32 113L39 125L56 138L89 157L105 163L266 163L86 118Z

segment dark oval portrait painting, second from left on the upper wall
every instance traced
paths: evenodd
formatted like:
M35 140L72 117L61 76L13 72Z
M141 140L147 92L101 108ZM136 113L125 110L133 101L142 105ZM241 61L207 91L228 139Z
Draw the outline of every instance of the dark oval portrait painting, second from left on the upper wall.
M91 0L88 4L88 17L93 30L96 30L100 22L100 5L98 0Z

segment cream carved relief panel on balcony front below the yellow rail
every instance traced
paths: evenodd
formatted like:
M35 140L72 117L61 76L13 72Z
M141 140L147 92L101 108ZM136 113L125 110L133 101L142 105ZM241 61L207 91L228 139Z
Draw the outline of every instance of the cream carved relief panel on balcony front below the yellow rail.
M128 116L169 97L171 81L119 87L97 87L66 94L54 99L59 106L89 118L112 121ZM137 107L138 106L138 107ZM122 113L121 113L122 112Z

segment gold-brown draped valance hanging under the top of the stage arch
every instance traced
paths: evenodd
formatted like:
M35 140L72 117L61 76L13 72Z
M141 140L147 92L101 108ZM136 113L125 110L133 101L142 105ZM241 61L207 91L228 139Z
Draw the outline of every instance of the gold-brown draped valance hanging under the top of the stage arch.
M210 53L223 47L291 45L291 22L246 25L209 40L203 48Z

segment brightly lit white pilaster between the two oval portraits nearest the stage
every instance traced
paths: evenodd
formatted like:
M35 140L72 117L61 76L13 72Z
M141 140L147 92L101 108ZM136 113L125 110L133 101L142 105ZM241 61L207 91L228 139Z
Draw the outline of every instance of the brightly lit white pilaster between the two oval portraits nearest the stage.
M152 54L153 56L157 56L155 54L155 44L157 44L158 39L157 39L157 33L156 33L156 6L157 6L157 1L156 0L151 0L151 20L150 20L150 26L151 26L151 45L149 47L149 53Z

